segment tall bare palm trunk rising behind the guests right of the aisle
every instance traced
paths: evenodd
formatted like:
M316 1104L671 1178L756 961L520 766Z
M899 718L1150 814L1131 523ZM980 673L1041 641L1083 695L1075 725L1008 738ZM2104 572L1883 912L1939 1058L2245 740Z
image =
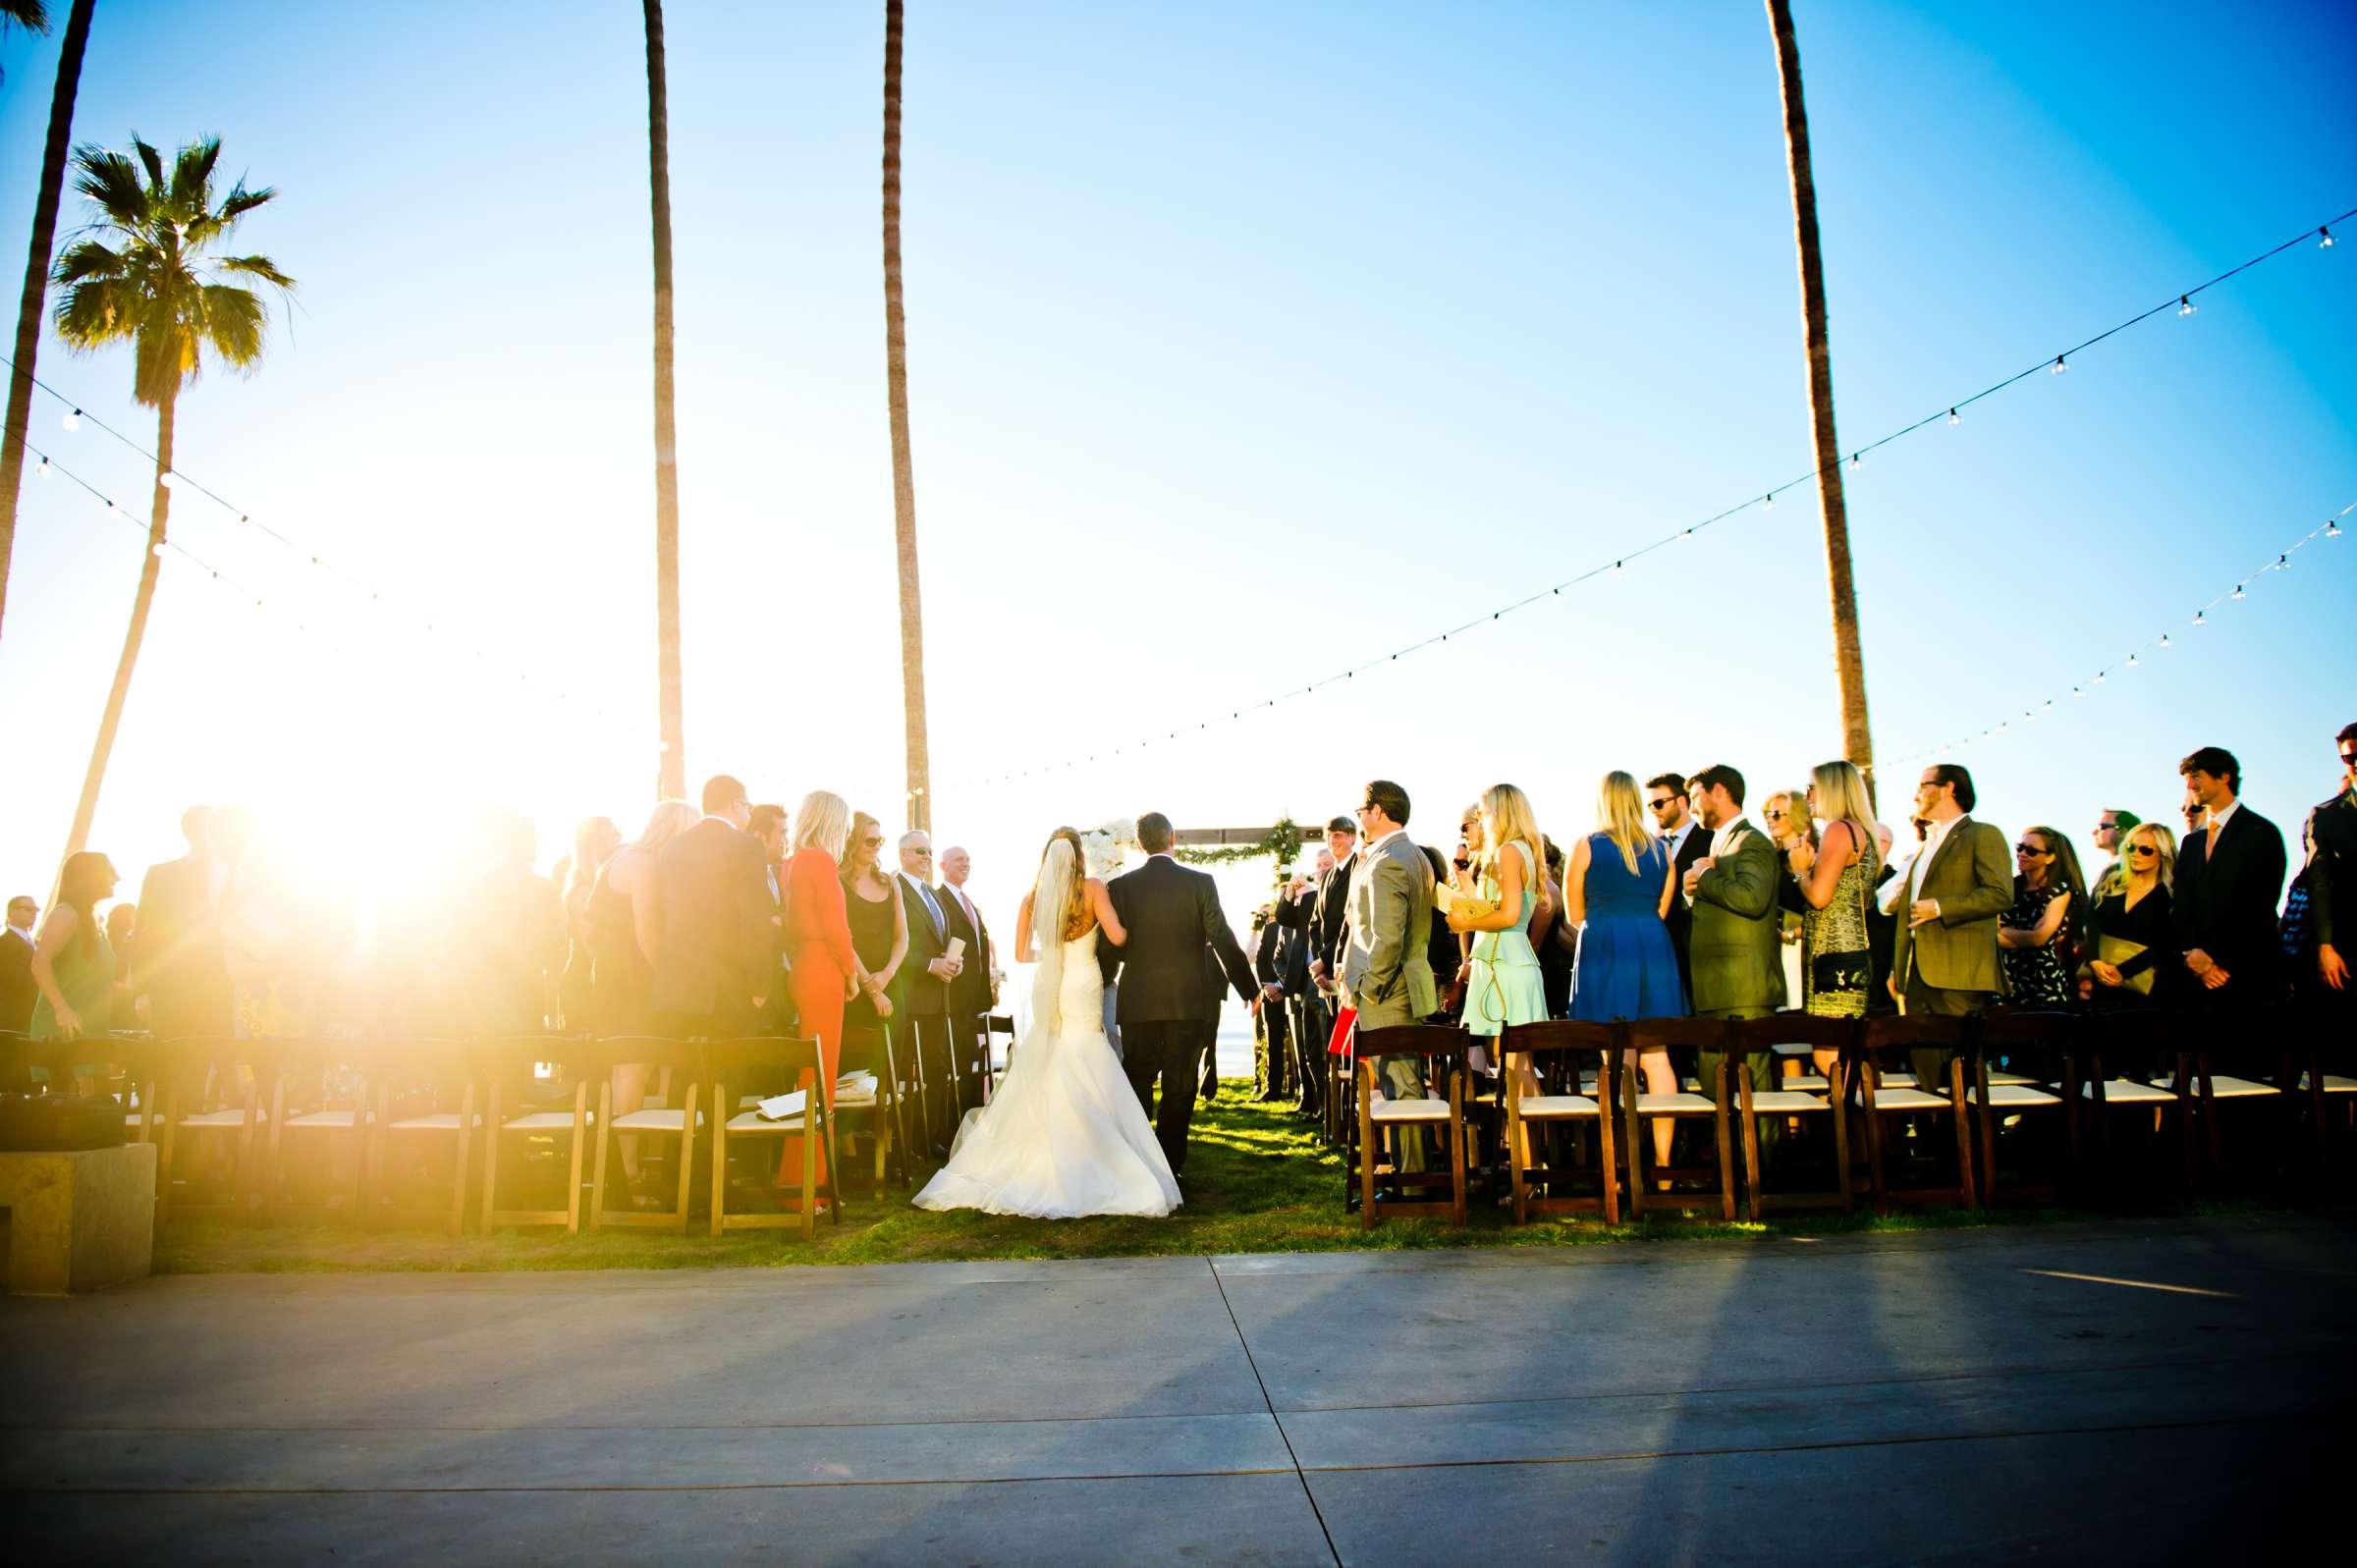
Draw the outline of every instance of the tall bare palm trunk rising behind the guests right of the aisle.
M1867 729L1867 655L1857 646L1857 587L1850 580L1850 512L1841 493L1841 439L1834 434L1834 349L1824 332L1824 257L1817 250L1817 177L1808 160L1808 106L1801 101L1801 45L1791 0L1768 0L1775 64L1784 83L1784 153L1791 163L1791 229L1801 248L1801 318L1808 332L1808 417L1817 439L1817 498L1824 507L1824 582L1834 599L1834 674L1841 681L1841 752L1874 783Z

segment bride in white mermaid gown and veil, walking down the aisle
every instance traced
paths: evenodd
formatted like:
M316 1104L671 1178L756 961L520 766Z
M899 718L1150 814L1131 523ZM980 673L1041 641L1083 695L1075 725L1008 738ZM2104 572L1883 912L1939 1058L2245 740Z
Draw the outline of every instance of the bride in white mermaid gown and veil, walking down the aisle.
M1016 920L1016 962L1032 962L1032 1016L1006 1078L917 1193L919 1210L1032 1219L1169 1214L1178 1184L1105 1040L1098 936L1122 946L1105 884L1084 875L1080 835L1058 828Z

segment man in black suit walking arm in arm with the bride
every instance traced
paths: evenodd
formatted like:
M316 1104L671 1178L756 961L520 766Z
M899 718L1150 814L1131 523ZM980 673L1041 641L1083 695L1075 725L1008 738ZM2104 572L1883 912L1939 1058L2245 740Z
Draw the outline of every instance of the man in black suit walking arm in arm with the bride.
M1195 1070L1211 1042L1204 1016L1219 1016L1216 1000L1204 997L1204 943L1219 955L1237 997L1256 1002L1259 986L1219 910L1219 887L1171 858L1171 818L1160 811L1141 816L1138 844L1146 849L1146 865L1105 887L1129 941L1120 948L1098 943L1098 957L1108 979L1120 979L1115 1019L1122 1026L1122 1068L1155 1122L1155 1139L1176 1177L1186 1165L1188 1122L1195 1115Z

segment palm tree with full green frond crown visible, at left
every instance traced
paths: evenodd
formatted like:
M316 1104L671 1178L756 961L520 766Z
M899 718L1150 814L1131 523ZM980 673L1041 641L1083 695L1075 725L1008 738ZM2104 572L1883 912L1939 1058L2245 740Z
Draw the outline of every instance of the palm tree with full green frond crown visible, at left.
M148 547L139 556L139 594L132 599L132 625L123 637L123 660L106 693L99 719L99 743L90 752L82 799L73 806L73 832L66 854L90 837L90 818L99 811L99 785L106 780L106 757L123 724L123 700L132 689L139 641L146 637L148 606L156 601L156 575L163 568L165 514L172 505L172 413L179 391L203 373L203 354L212 349L222 363L252 370L262 363L269 309L245 281L269 283L280 292L295 278L262 255L217 255L238 222L278 191L247 191L240 179L229 196L214 200L212 170L222 160L219 137L205 137L179 149L170 172L163 156L132 137L132 158L104 146L73 149L73 189L92 205L87 238L66 245L52 281L57 297L57 335L68 349L92 354L111 344L132 347L132 401L156 410L156 483L148 495ZM146 179L141 179L141 170Z

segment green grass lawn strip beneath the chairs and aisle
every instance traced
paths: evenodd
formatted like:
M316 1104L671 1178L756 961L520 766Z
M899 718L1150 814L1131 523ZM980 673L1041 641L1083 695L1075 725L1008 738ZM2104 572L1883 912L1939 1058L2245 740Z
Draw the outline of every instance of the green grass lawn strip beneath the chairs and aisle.
M1315 1127L1275 1106L1244 1103L1247 1082L1223 1082L1219 1101L1195 1115L1186 1207L1169 1219L1002 1219L929 1214L905 1193L865 1195L844 1205L841 1224L799 1231L691 1236L653 1231L354 1231L335 1226L240 1226L174 1221L156 1236L156 1273L222 1271L490 1271L490 1269L745 1269L780 1264L907 1264L992 1257L1157 1257L1211 1252L1362 1252L1398 1247L1582 1247L1598 1243L1690 1240L1730 1236L1827 1236L1843 1231L1919 1231L1989 1224L1982 1214L1923 1212L1876 1219L1808 1217L1770 1224L1655 1219L1605 1226L1600 1219L1544 1219L1516 1226L1508 1210L1475 1198L1464 1228L1435 1219L1388 1219L1374 1231L1343 1212L1341 1155ZM1996 1221L2069 1217L2053 1210L2006 1212Z

